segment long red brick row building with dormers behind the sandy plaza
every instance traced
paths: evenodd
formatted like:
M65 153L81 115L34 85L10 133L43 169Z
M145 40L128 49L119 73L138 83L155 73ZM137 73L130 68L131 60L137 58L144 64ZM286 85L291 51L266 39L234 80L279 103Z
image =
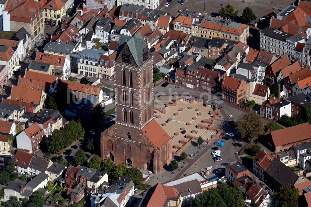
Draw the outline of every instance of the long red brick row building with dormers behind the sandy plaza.
M175 83L184 87L215 93L220 90L221 76L218 71L191 65L179 67L175 72Z

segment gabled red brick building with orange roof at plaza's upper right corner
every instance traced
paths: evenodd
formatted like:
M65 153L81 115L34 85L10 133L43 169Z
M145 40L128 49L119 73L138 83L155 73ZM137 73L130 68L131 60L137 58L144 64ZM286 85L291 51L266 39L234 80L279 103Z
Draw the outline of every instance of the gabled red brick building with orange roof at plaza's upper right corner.
M246 101L247 85L243 79L239 80L234 77L224 76L221 92L223 93L224 99L239 104Z

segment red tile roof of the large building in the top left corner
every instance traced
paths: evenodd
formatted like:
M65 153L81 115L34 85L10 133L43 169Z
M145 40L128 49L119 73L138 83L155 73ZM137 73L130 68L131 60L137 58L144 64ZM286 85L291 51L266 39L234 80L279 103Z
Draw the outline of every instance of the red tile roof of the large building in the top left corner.
M35 0L8 0L5 10L10 14L10 21L31 23L44 9Z

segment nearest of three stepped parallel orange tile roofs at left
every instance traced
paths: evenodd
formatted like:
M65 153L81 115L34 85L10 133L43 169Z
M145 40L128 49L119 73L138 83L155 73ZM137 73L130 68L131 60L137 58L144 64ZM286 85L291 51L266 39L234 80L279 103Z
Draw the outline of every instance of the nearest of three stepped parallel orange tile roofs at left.
M12 85L11 99L40 105L41 90L31 90Z

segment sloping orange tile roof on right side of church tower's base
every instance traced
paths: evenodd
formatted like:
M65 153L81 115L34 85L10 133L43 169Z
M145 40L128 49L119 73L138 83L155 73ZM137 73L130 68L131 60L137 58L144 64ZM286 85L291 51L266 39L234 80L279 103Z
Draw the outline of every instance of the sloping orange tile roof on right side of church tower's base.
M155 119L149 122L142 129L142 132L157 148L160 148L170 139L170 136L160 127Z

